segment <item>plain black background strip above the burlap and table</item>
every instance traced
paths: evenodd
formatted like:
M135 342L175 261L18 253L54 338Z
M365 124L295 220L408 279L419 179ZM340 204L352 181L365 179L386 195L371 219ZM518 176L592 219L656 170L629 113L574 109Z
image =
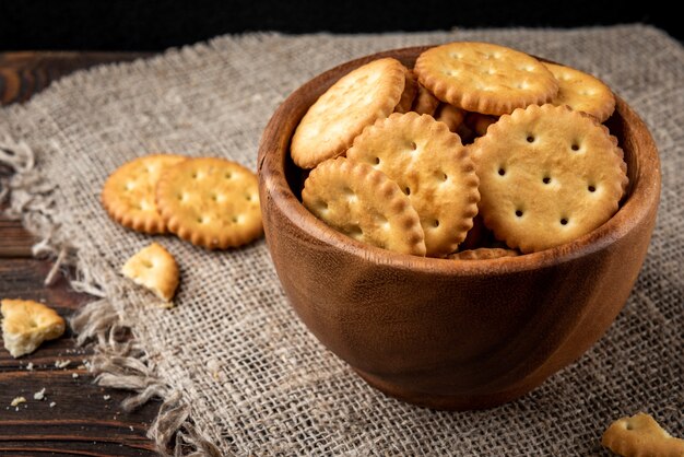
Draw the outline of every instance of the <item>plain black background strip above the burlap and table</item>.
M0 50L154 51L246 31L355 33L635 22L654 25L682 42L681 20L661 0L0 0Z

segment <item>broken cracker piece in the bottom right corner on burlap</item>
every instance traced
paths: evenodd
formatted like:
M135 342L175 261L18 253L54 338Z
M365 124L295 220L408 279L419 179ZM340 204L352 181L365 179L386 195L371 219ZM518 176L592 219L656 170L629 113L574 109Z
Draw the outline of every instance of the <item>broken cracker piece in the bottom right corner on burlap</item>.
M684 456L684 440L671 436L644 412L613 422L603 433L601 444L624 457Z

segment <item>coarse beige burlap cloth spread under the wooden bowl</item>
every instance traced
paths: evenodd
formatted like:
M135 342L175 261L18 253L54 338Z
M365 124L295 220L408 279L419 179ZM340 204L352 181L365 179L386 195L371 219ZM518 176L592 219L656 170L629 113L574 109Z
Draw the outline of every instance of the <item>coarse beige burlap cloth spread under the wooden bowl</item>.
M118 276L152 237L99 203L109 173L153 151L217 155L256 167L284 97L318 72L372 51L492 40L602 78L650 127L662 201L642 271L608 333L577 363L508 405L436 412L362 382L300 324L263 241L209 253L160 236L179 260L170 310ZM605 455L614 419L647 411L684 436L684 50L644 25L417 34L223 36L149 60L81 71L0 112L2 187L45 239L36 255L74 263L99 297L74 318L96 343L99 382L165 401L150 435L177 455ZM57 269L55 270L55 272ZM543 286L543 284L540 284ZM117 342L129 326L135 337Z

